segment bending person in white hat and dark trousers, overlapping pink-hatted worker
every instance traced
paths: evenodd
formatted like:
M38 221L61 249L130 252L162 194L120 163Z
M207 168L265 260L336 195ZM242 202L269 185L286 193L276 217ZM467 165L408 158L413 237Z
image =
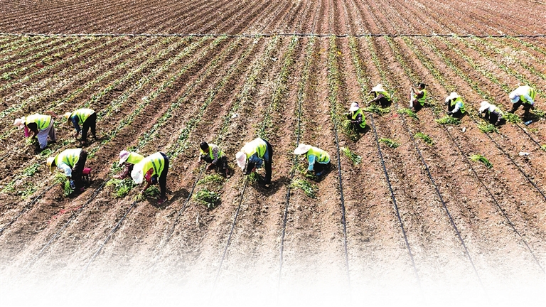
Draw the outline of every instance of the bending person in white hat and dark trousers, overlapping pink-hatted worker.
M133 171L131 171L131 177L137 184L141 184L144 179L146 179L146 186L144 186L142 189L142 194L144 194L150 185L159 183L161 195L159 195L157 204L161 205L167 200L165 195L167 190L167 172L167 156L162 152L156 152L155 154L151 154L150 156L143 158L139 163L135 164Z

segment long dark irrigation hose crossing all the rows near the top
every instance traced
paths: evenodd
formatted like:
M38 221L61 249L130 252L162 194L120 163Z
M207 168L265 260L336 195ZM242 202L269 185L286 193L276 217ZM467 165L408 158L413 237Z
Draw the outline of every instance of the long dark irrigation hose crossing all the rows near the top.
M148 37L148 38L163 38L163 37L227 37L227 38L256 38L256 37L273 37L273 36L299 36L299 37L331 37L336 38L363 38L363 37L382 37L387 36L390 38L396 37L415 37L415 38L427 38L427 37L459 37L459 38L543 38L546 34L491 34L491 35L473 35L473 34L412 34L412 33L360 33L360 34L328 34L328 33L256 33L256 34L227 34L227 33L0 33L0 36L44 36L44 37Z

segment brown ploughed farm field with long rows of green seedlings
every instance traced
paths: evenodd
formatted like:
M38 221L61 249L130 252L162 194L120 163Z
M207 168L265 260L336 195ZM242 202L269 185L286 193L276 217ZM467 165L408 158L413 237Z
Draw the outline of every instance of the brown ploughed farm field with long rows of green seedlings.
M125 303L142 304L210 289L218 303L248 288L285 304L404 301L392 289L429 303L543 300L546 5L477 3L5 1L0 291L36 286L54 301L59 286L123 289ZM429 105L411 114L419 82ZM356 137L343 112L367 107L379 83L393 103L367 109ZM537 90L532 123L520 109L486 126L480 102L507 111L518 85ZM439 124L454 91L468 114ZM78 146L73 129L57 120L58 141L37 153L12 124L81 107L97 112L100 139L85 147L93 182L66 197L45 160ZM269 189L235 163L256 137L274 149ZM201 141L228 154L231 178L203 171ZM301 174L302 142L332 158L321 181ZM122 149L169 156L167 203L137 199L139 187L117 195ZM218 207L196 199L205 189ZM26 302L11 294L7 303Z

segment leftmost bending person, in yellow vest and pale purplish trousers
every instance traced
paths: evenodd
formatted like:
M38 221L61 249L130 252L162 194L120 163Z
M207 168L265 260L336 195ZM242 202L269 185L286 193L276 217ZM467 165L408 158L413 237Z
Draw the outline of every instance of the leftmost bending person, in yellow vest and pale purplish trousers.
M19 129L24 128L26 137L30 136L29 130L32 131L32 138L38 138L40 149L43 150L45 146L48 146L48 136L51 141L57 141L54 122L51 115L32 114L16 119L14 125Z

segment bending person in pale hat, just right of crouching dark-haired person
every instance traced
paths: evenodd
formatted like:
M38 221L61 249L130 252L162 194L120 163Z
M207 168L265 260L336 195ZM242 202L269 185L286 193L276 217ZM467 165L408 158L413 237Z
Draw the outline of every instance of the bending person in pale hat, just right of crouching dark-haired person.
M242 147L241 151L235 155L237 158L237 166L242 170L242 173L249 175L257 168L262 167L265 163L265 181L264 188L269 188L271 185L271 166L273 158L273 147L268 141L257 138Z

